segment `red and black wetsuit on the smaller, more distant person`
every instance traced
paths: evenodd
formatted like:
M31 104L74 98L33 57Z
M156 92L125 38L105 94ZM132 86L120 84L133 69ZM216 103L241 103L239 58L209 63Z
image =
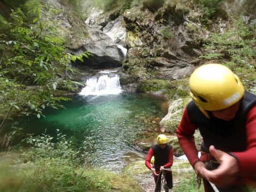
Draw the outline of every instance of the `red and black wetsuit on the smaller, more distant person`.
M158 144L153 145L149 152L148 156L145 160L145 165L151 169L150 160L152 157L155 157L155 161L153 164L153 168L155 168L156 173L159 174L159 169L161 166L164 168L170 168L173 164L173 147L172 145L167 144L165 149L161 149ZM159 175L160 176L160 175ZM158 176L154 175L155 183L157 184L156 190L158 191L161 188L161 181L157 183ZM166 184L171 189L172 185L172 172L166 172L165 174Z

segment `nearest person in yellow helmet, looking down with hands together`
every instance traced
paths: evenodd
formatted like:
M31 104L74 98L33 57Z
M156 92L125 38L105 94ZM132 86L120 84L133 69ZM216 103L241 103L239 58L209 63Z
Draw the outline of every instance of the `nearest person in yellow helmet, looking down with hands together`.
M250 191L256 181L256 96L222 64L201 65L189 87L192 101L176 133L189 163L203 178L204 190ZM196 129L203 139L201 158Z

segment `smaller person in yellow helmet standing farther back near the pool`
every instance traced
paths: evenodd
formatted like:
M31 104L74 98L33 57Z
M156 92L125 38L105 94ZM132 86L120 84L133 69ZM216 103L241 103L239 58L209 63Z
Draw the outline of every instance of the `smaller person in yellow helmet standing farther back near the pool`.
M151 159L153 160L153 167L151 166ZM154 180L156 183L155 191L161 190L161 176L164 168L171 168L173 164L173 147L168 144L168 139L166 135L160 134L157 136L157 144L152 145L149 149L147 158L145 159L145 165L150 169L154 176ZM158 179L159 177L159 179ZM172 172L166 171L165 180L167 187L165 191L169 191L172 189ZM157 182L158 181L158 182Z

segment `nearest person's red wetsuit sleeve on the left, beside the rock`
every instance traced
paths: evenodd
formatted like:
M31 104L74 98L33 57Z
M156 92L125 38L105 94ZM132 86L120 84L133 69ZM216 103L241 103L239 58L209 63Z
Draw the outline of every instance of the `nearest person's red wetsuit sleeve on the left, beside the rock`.
M182 115L181 122L176 130L180 146L188 158L189 163L194 167L194 164L199 161L198 150L196 149L194 133L198 127L189 121L187 108Z

